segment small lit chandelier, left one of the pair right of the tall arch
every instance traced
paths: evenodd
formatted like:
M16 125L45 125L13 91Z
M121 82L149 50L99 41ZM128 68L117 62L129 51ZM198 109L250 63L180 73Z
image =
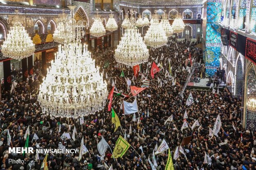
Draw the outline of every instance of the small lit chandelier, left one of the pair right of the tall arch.
M100 15L97 12L95 19L92 23L92 27L90 28L90 34L94 37L102 37L106 34L106 30L101 22Z

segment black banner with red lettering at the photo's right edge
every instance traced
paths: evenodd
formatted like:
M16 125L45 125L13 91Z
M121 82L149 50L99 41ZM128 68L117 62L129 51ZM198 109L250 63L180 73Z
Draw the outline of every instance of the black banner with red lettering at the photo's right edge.
M256 64L256 41L250 38L246 40L245 58Z

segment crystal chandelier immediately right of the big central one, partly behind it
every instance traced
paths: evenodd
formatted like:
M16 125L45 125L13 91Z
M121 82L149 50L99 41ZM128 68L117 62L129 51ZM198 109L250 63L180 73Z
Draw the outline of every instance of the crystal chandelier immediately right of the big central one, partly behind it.
M166 45L168 42L166 33L156 17L157 16L154 15L154 22L150 25L144 37L145 44L152 48L159 48Z

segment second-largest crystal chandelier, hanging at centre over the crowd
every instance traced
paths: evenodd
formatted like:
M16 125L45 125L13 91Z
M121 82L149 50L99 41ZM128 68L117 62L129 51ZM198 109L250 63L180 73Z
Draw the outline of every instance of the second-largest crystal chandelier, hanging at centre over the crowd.
M133 10L131 10L133 14ZM149 58L149 50L135 27L135 19L131 15L130 25L124 31L119 45L115 50L114 57L118 63L128 66L145 63Z

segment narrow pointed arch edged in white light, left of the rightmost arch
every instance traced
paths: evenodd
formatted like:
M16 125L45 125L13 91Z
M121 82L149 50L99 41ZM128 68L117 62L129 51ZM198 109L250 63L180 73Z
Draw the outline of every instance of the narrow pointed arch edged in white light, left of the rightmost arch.
M235 87L234 95L242 97L244 79L244 56L239 54L235 64Z

